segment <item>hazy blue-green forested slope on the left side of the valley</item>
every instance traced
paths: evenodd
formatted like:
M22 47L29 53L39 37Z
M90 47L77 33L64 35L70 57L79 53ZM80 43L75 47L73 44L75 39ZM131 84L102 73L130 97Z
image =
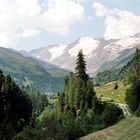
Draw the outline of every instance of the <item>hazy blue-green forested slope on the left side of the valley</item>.
M52 77L41 63L10 49L0 48L0 69L22 85L28 84L46 92L57 92L63 89L64 77Z

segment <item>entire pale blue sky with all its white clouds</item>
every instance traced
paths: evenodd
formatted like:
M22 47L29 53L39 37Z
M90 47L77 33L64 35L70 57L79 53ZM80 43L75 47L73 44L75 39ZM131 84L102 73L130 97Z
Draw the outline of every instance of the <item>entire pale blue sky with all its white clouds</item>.
M140 32L139 0L0 0L0 46L32 50Z

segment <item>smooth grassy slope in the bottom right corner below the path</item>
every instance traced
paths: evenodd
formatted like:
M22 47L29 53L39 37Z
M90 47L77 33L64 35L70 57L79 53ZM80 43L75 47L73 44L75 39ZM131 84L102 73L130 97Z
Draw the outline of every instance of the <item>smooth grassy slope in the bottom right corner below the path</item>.
M80 140L140 140L140 117L121 120L109 128L91 133Z

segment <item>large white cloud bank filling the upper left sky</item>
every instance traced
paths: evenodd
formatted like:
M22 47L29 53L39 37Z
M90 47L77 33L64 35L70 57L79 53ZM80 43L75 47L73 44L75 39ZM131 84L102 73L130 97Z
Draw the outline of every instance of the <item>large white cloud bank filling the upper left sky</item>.
M11 47L18 37L31 37L46 30L67 35L73 24L84 20L84 8L75 0L0 0L0 46Z

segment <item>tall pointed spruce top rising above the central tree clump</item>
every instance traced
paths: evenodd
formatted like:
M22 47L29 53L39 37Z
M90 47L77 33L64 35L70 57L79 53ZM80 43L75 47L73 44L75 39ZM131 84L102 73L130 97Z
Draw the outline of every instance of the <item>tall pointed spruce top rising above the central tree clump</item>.
M82 50L77 55L77 62L75 67L75 74L77 77L87 81L88 75L86 74L86 62Z

